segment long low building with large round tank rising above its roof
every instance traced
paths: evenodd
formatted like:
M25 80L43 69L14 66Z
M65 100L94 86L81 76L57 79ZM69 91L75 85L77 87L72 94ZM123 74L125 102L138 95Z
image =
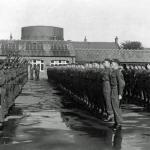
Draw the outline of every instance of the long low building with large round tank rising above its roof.
M50 65L102 61L118 58L122 62L150 62L149 50L121 50L116 37L113 42L65 41L63 28L29 26L21 30L21 40L0 40L0 57L17 52L32 65L40 64L44 72Z

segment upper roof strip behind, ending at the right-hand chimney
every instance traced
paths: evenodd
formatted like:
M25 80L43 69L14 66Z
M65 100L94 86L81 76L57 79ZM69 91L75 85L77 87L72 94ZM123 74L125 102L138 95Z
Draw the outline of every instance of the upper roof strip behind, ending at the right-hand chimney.
M74 49L119 49L115 42L71 42Z

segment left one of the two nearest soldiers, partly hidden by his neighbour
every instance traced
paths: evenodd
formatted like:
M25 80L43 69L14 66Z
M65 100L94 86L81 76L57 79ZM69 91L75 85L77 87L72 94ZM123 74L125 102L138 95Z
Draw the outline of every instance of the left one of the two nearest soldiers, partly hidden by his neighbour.
M106 103L106 110L107 110L107 119L105 121L111 121L113 117L113 110L111 106L111 87L110 87L110 60L105 59L103 62L104 66L104 72L103 72L103 94L104 94L104 100Z

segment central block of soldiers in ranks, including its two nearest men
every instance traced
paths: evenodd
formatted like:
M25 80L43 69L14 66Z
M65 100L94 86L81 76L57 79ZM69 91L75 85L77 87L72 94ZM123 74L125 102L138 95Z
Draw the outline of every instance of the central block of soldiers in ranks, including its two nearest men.
M114 127L122 124L119 101L122 99L125 82L119 69L119 61L105 59L97 63L52 67L48 78L77 96L90 109L105 114L105 121L114 120Z

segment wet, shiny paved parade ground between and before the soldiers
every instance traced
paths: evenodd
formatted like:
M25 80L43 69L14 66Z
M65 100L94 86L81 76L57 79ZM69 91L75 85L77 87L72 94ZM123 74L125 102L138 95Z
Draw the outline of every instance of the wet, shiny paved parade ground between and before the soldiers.
M0 150L149 150L150 112L122 108L123 128L113 131L46 79L28 81L0 131Z

